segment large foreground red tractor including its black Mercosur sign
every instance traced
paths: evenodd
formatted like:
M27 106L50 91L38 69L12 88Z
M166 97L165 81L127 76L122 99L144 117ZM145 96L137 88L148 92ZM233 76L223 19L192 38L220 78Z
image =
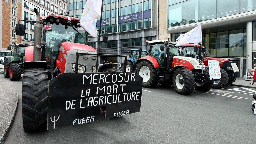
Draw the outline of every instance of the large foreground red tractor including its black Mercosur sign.
M87 32L80 27L80 19L76 16L58 13L40 19L39 12L36 9L34 12L37 15L36 21L24 20L36 23L34 47L25 48L26 57L23 63L22 117L25 132L37 132L46 128L51 130L56 127L100 120L101 116L103 119L108 119L140 111L141 91L137 90L141 89L142 78L139 78L140 76L135 72L125 72L127 56L98 54L97 50L89 46ZM25 26L17 24L16 34L24 35L24 33ZM103 41L106 40L107 36L103 35ZM115 63L105 63L98 69L100 56L125 57L123 72L113 68ZM129 75L131 75L129 81L126 80L127 78L122 78L125 76L129 79ZM121 82L134 87L132 95L136 99L121 103L120 99L124 98L119 95L119 103L116 103L115 95L103 97L105 87L107 87L106 93L115 94L119 90L118 83ZM101 86L104 89L98 89ZM109 91L110 86L113 86L113 91ZM81 89L76 90L78 87L87 90L83 92L82 89L81 92ZM97 91L100 96L93 93L88 97L89 88L92 89L91 93ZM125 90L128 88L124 88ZM79 100L74 100L75 97ZM113 103L110 100L112 97ZM128 98L128 95L126 97ZM62 100L65 101L61 102ZM80 106L76 101L80 102ZM78 105L75 105L76 103ZM53 115L55 112L59 112L58 115Z

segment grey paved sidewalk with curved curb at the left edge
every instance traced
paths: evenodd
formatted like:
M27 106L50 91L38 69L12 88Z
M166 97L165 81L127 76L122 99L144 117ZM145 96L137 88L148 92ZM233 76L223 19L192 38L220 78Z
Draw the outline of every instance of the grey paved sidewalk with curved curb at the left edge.
M18 105L18 90L7 78L0 78L0 143L12 127Z

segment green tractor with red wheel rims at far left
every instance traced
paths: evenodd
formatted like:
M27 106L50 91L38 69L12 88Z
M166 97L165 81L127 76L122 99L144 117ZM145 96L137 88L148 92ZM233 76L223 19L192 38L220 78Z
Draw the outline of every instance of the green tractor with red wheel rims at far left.
M19 81L23 73L23 62L25 61L25 47L33 46L29 44L8 45L8 50L13 46L12 56L4 57L4 77L11 81Z

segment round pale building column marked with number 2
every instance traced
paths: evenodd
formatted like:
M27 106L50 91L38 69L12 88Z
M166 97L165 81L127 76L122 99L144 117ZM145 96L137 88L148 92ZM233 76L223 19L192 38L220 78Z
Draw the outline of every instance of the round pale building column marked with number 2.
M246 24L246 69L252 69L252 22Z

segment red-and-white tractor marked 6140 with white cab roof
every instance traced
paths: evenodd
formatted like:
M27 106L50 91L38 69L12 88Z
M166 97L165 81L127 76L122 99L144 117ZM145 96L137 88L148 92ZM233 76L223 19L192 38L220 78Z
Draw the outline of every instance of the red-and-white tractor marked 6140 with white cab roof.
M194 89L208 91L213 80L202 61L180 56L175 42L164 40L148 41L149 56L137 61L136 71L143 78L143 87L151 88L159 84L172 85L179 94L190 94ZM202 73L203 70L203 73Z

